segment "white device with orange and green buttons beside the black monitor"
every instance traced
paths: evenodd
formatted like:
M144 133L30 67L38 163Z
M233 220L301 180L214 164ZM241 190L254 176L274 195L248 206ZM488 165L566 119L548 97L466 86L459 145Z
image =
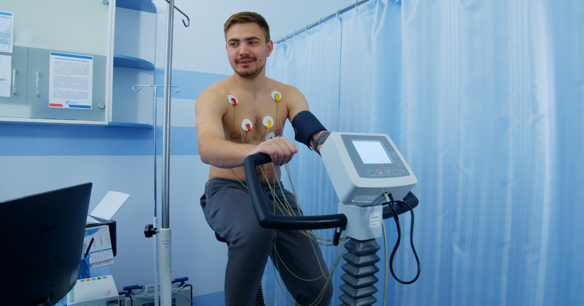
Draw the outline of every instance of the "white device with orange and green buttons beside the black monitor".
M67 293L70 306L119 305L116 283L111 275L78 279L75 287Z

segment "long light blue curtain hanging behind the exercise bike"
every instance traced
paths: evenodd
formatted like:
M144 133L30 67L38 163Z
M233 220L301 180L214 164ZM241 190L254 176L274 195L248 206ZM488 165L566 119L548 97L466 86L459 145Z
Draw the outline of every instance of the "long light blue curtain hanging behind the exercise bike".
M583 305L584 2L372 0L276 44L267 75L331 131L387 133L418 177L422 273L390 275L388 305ZM290 169L308 213L336 213L317 154L301 148ZM394 267L412 279L401 219ZM286 305L266 271L266 300Z

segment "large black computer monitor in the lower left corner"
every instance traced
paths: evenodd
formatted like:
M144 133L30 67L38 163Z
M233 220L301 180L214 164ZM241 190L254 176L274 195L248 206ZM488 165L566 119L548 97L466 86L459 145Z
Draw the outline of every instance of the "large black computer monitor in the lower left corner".
M53 305L75 286L91 187L0 202L3 305Z

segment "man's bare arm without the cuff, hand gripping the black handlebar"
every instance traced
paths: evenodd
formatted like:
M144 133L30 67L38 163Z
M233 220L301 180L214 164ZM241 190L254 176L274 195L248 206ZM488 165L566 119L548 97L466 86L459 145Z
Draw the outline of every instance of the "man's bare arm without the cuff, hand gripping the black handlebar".
M221 103L223 100L224 103ZM213 90L204 90L195 104L197 114L197 139L201 161L219 168L234 168L244 165L245 157L265 153L272 157L276 166L288 163L298 152L286 138L270 139L260 145L238 144L225 140L223 115L232 107L227 99Z

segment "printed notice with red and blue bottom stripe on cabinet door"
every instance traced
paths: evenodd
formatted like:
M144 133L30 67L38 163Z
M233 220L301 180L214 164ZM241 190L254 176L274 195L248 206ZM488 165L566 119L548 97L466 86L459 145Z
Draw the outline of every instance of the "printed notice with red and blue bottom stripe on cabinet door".
M51 52L48 107L91 110L93 57Z

